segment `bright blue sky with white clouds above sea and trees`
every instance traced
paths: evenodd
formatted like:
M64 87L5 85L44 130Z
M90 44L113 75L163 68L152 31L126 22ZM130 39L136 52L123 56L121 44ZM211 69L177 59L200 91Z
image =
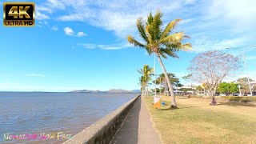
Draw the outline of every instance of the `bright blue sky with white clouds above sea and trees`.
M174 31L191 37L186 42L193 50L163 60L167 72L183 84L198 53L223 50L241 57L237 48L256 45L255 0L27 2L35 2L36 26L0 26L0 91L139 89L137 70L144 64L153 67L154 55L131 46L126 37L131 34L141 41L136 20L150 11L164 14L163 26L182 18ZM245 54L250 77L256 79L256 47ZM158 62L156 73L162 73ZM237 78L244 76L243 68Z

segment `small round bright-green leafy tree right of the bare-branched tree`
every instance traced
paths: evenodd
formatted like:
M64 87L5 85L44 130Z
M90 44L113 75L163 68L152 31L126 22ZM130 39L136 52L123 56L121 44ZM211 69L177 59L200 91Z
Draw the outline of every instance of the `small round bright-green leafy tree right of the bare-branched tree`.
M233 93L238 93L238 84L234 82L222 82L218 86L218 92L226 94L226 96Z

